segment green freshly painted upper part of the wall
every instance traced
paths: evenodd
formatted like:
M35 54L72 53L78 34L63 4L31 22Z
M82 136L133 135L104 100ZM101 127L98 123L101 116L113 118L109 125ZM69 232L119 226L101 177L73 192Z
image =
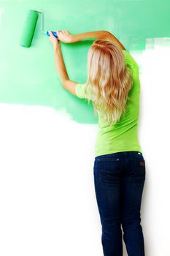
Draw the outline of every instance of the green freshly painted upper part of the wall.
M146 38L169 37L170 1L1 1L0 0L0 102L43 105L66 109L81 123L96 123L93 107L60 85L53 48L41 32L41 17L31 48L19 45L27 10L45 14L45 31L69 30L72 34L109 30L127 50L144 50ZM93 40L63 44L69 78L85 83L87 53Z

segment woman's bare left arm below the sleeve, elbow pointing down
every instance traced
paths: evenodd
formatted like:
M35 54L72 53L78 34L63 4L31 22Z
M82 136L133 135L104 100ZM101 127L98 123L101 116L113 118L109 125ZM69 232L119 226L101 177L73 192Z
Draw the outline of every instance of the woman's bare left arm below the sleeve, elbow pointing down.
M61 44L58 41L56 37L54 37L53 33L49 31L50 34L50 41L53 45L53 52L54 52L54 58L55 58L55 67L58 72L58 75L61 78L61 85L70 93L74 94L77 96L75 93L75 88L77 86L77 83L69 80L69 75L67 74L66 71L66 66L63 60L63 53L61 50Z

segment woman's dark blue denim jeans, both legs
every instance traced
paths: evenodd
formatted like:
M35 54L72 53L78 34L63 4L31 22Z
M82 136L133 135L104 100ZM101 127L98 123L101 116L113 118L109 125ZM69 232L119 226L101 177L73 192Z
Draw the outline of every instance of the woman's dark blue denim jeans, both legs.
M142 153L123 151L95 157L93 174L104 256L123 256L123 240L128 256L144 256L140 224L145 180Z

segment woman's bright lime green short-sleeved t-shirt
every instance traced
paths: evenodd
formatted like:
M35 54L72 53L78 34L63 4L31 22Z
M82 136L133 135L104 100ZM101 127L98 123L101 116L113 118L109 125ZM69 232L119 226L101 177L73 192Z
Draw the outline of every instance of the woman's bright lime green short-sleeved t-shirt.
M130 100L128 99L126 102L128 108L125 115L117 123L112 125L105 125L104 118L98 112L98 135L96 137L95 157L121 151L142 152L138 141L139 66L127 50L123 50L123 54L125 64L132 69L134 81L128 93L130 97ZM85 84L78 83L76 86L76 94L80 99L85 99L84 88ZM88 93L90 93L90 90L88 90Z

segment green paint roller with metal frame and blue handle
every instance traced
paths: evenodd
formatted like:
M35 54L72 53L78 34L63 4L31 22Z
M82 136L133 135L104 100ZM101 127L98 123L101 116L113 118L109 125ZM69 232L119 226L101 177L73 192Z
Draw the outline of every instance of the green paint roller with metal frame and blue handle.
M34 37L34 31L36 29L36 23L39 18L39 13L42 15L42 33L47 34L50 37L50 34L45 32L43 30L43 21L44 21L44 15L43 12L38 10L28 10L26 15L26 20L23 26L23 33L20 37L20 46L23 47L30 47L32 39ZM52 31L53 35L55 37L58 37L57 33L55 31Z

